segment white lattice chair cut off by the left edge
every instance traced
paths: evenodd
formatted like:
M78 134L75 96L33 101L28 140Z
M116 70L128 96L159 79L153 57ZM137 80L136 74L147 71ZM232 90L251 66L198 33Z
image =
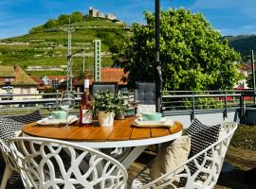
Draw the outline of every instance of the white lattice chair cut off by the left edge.
M0 139L0 149L2 152L2 157L6 163L6 168L3 175L3 179L1 181L0 189L5 189L11 173L13 171L19 173L19 170L13 156L10 153L9 146L7 146L1 139Z

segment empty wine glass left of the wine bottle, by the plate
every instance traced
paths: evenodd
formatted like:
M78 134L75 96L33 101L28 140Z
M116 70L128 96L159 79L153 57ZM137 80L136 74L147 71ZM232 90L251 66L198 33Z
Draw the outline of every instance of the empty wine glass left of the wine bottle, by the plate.
M65 127L68 127L68 121L67 121L68 114L74 105L75 105L75 97L74 97L73 92L65 91L62 94L62 99L60 102L61 109L64 110L64 112L66 112Z

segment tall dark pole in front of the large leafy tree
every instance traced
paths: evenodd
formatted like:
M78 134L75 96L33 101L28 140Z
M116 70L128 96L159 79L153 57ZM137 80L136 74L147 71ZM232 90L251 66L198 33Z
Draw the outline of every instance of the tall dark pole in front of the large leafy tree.
M160 0L155 0L155 111L161 112L162 107L162 72L160 62Z

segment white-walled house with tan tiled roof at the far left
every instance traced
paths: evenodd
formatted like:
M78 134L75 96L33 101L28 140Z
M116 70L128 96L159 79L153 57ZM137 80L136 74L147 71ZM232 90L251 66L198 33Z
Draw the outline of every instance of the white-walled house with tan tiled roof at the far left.
M0 66L0 94L39 94L36 85L37 83L18 65ZM41 96L2 96L1 100L24 100L36 98L41 98Z

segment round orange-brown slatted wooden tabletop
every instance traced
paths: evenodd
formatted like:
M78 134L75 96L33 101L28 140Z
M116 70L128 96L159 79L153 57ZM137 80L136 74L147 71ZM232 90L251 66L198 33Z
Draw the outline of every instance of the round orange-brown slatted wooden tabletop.
M23 127L23 132L30 136L65 141L111 142L162 137L177 133L182 129L182 124L176 121L172 128L141 129L132 127L134 120L135 118L132 117L117 120L113 127L105 128L99 126L82 127L78 122L71 124L68 128L37 126L36 123L31 123Z

